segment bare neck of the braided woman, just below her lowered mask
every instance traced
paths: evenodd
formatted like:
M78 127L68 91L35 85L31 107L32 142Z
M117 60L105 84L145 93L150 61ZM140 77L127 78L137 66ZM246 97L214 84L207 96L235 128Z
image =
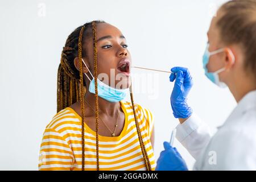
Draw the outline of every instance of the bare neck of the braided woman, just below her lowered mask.
M95 110L95 102L96 102L96 97L95 94L86 92L84 99L88 104ZM86 105L85 102L85 105ZM117 111L120 108L120 102L109 102L104 100L101 97L98 97L98 105L99 105L99 110L100 112L106 115L114 116L116 115Z

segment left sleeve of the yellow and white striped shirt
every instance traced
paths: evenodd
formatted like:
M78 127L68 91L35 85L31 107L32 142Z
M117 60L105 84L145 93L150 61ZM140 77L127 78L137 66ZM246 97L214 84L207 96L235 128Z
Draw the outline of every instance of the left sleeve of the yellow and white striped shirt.
M67 140L54 129L44 131L39 154L39 170L71 170L73 152Z

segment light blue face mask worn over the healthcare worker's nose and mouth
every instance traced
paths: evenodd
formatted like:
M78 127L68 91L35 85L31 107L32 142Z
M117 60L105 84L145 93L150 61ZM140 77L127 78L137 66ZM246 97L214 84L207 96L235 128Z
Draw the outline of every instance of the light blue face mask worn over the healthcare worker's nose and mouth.
M224 48L221 48L216 51L209 52L209 43L208 43L207 48L205 49L205 52L204 52L204 56L203 56L203 66L204 66L205 76L207 76L210 81L212 81L214 84L220 86L221 88L225 88L226 84L224 82L220 81L220 77L218 76L218 73L225 71L226 68L224 67L224 68L218 69L215 72L208 72L207 64L209 63L210 56L215 55L220 52L224 52L224 50L225 50ZM230 53L233 57L233 62L234 62L235 58L234 58L234 55L231 50L230 50Z

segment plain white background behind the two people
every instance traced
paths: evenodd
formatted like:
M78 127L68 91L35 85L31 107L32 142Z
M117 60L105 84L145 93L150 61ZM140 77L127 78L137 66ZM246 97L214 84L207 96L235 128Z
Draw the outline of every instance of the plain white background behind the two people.
M67 36L102 19L126 36L133 64L170 70L188 67L194 79L189 105L210 127L222 125L236 102L204 76L201 64L216 6L225 1L4 1L0 6L0 169L37 170L43 131L56 114L56 75ZM42 7L46 7L45 14ZM134 70L134 73L152 74ZM178 121L168 73L148 81L156 94L135 92L135 102L155 116L155 156ZM135 88L134 88L135 89ZM174 144L191 169L195 160Z

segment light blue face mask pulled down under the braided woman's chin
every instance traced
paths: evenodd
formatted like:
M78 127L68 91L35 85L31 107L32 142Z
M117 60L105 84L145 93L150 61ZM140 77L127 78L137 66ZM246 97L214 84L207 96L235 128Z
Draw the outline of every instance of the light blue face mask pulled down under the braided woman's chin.
M84 60L82 60L84 63L85 67L88 69L90 75L93 77L92 73L90 72L89 68L85 64ZM86 73L84 73L85 76L90 80L90 85L89 85L89 92L95 94L95 80L94 77L91 80ZM104 82L100 81L97 79L97 85L98 85L98 96L101 98L109 101L109 102L119 102L123 100L126 97L126 93L129 90L127 89L115 89L112 88L109 85L106 85Z

